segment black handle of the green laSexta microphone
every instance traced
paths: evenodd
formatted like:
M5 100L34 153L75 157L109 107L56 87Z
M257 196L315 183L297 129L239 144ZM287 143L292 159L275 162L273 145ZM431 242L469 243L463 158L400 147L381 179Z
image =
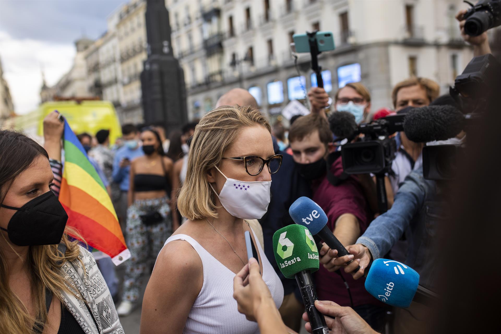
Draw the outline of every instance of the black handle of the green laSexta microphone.
M329 327L325 323L324 315L315 307L315 300L318 300L318 297L310 270L303 270L296 273L295 276L306 307L306 313L312 325L312 334L328 334Z

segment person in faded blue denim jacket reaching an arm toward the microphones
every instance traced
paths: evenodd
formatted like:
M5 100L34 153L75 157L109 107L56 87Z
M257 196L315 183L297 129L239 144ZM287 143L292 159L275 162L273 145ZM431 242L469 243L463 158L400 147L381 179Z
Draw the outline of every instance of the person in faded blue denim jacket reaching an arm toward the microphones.
M410 226L412 236L405 264L419 273L421 285L433 289L434 261L430 259L436 242L436 228L444 219L444 208L445 203L437 194L436 182L424 179L423 168L419 167L405 178L392 208L373 220L357 239L357 244L349 248L356 251L353 254L366 268L369 261L384 256ZM363 275L363 268L354 278ZM348 267L346 272L350 272Z

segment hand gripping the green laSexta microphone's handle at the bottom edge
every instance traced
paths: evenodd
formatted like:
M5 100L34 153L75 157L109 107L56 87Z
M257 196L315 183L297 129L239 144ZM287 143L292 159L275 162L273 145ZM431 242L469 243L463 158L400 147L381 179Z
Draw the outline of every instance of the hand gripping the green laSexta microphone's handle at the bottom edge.
M328 300L315 300L315 307L320 313L328 315L325 317L325 322L331 334L376 334L376 331L351 307L339 306L334 301ZM306 312L303 314L303 320L309 321ZM312 332L310 322L306 322L305 328L309 333Z

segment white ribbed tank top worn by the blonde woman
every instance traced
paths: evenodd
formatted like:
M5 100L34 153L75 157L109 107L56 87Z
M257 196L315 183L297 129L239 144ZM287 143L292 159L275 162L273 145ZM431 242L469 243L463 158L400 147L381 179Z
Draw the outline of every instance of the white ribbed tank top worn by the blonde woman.
M251 228L252 230L252 228ZM254 233L257 248L263 262L263 280L270 289L277 308L284 299L284 287L268 261ZM186 319L183 334L257 334L258 323L249 321L237 310L233 298L235 274L207 252L195 239L186 234L176 234L165 241L184 240L196 250L203 266L203 284Z

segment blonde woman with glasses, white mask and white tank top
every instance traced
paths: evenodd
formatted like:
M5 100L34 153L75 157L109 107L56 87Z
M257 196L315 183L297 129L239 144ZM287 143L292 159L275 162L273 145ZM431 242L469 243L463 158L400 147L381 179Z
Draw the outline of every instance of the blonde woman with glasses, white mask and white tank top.
M141 332L259 333L233 299L233 278L247 264L245 231L276 306L282 304L284 289L256 236L260 231L246 221L266 213L271 174L282 163L270 130L260 111L238 106L221 106L196 126L178 196L188 221L158 255L144 295Z

